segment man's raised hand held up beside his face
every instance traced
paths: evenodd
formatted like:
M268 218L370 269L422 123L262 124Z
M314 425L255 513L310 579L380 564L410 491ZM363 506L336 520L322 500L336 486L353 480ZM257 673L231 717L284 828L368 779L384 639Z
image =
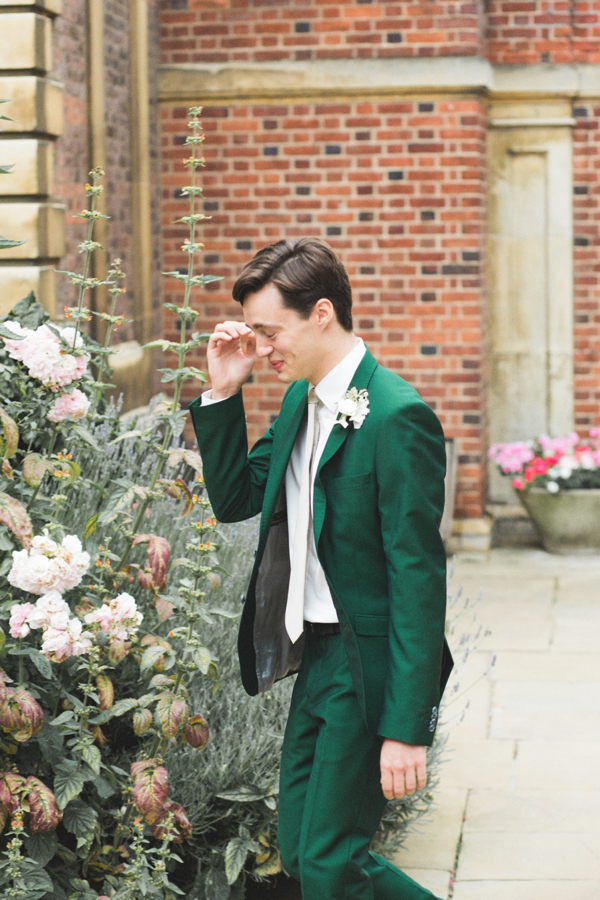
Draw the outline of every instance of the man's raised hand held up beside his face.
M220 322L208 341L206 360L214 400L237 394L256 360L254 333L243 322Z

